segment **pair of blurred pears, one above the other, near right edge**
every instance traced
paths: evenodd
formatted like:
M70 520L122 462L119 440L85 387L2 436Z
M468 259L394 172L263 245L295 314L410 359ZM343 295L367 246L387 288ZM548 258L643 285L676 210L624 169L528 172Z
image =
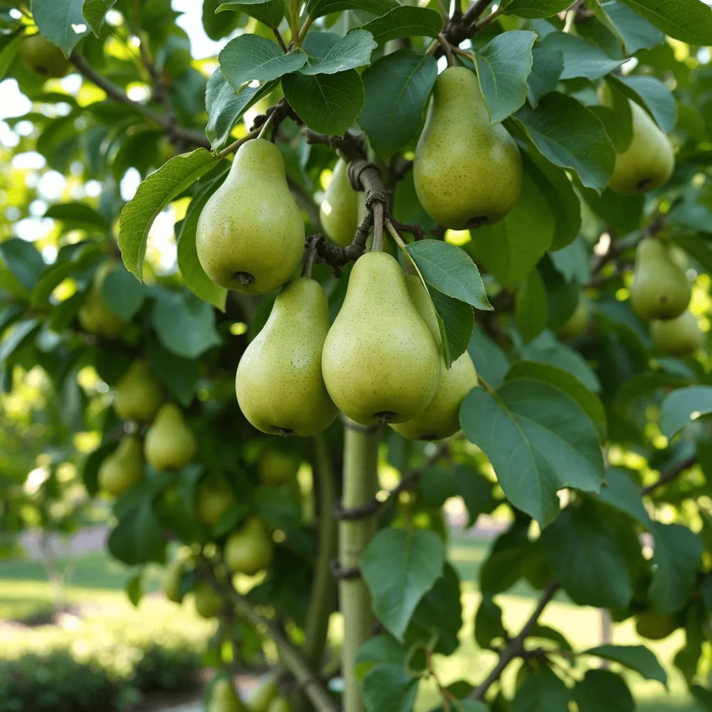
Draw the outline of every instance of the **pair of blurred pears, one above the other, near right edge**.
M692 289L687 279L686 256L654 237L637 247L630 304L651 322L653 344L670 356L687 355L703 344L703 333L688 310Z

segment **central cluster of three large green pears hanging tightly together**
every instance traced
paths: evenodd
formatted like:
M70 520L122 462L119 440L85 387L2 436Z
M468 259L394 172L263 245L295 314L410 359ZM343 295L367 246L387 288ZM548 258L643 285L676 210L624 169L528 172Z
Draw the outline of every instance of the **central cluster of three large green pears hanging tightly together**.
M320 284L284 286L236 375L237 399L253 426L313 435L341 411L361 424L394 424L413 439L459 429L459 407L477 384L465 354L445 370L436 315L416 276L384 252L360 257L330 327Z

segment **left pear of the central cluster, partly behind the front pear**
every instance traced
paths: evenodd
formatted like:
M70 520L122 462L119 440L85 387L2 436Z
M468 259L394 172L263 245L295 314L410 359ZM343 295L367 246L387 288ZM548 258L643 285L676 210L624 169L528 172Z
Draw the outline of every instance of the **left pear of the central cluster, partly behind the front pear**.
M336 417L321 374L329 310L321 285L300 277L277 295L246 348L235 387L240 408L263 433L315 435Z

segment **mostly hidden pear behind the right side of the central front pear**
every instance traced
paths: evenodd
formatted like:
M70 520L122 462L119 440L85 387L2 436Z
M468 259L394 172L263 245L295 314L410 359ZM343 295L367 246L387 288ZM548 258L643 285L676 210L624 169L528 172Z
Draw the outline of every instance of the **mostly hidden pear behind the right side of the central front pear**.
M420 315L429 325L436 342L441 342L433 304L418 276L407 274L408 292ZM392 425L397 433L409 440L441 440L460 429L460 406L465 396L477 385L477 372L468 352L464 352L440 377L434 398L424 411L405 423Z

